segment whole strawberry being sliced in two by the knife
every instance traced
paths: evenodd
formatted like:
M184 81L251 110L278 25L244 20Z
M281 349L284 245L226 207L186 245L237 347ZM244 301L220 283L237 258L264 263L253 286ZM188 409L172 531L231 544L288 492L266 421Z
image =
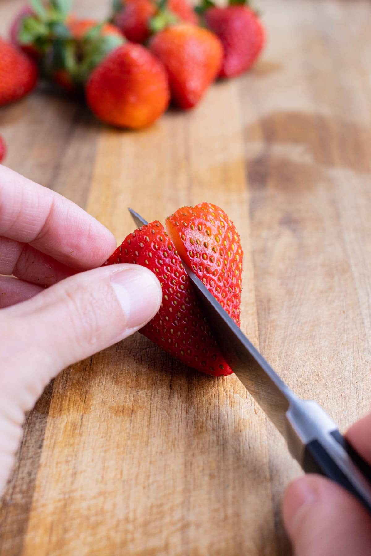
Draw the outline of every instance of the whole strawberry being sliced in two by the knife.
M166 227L167 232L155 221L135 230L105 264L139 264L159 278L162 305L142 334L194 369L229 375L233 371L217 346L179 254L239 325L243 252L238 233L225 212L209 203L177 210Z

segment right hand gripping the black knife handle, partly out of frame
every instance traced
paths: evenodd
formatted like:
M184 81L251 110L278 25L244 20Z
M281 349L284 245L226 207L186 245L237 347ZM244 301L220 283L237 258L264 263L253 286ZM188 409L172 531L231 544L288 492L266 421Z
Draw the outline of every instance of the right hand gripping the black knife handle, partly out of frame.
M345 435L371 463L371 414ZM319 475L305 475L286 490L283 517L295 556L369 556L371 515L346 490Z

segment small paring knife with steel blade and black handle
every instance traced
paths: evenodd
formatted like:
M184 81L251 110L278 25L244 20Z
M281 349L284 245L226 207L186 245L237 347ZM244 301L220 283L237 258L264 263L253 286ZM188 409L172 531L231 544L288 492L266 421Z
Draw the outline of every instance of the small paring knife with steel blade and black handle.
M148 222L129 209L137 226ZM320 473L349 490L371 513L371 465L340 434L315 401L301 400L182 261L225 360L286 440L306 473Z

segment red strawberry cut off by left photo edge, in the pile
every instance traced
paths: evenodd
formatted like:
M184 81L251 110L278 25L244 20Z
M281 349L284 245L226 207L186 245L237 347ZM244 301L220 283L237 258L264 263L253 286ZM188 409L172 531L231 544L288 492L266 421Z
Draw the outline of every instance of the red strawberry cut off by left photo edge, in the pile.
M26 96L36 82L36 64L0 38L0 106Z

